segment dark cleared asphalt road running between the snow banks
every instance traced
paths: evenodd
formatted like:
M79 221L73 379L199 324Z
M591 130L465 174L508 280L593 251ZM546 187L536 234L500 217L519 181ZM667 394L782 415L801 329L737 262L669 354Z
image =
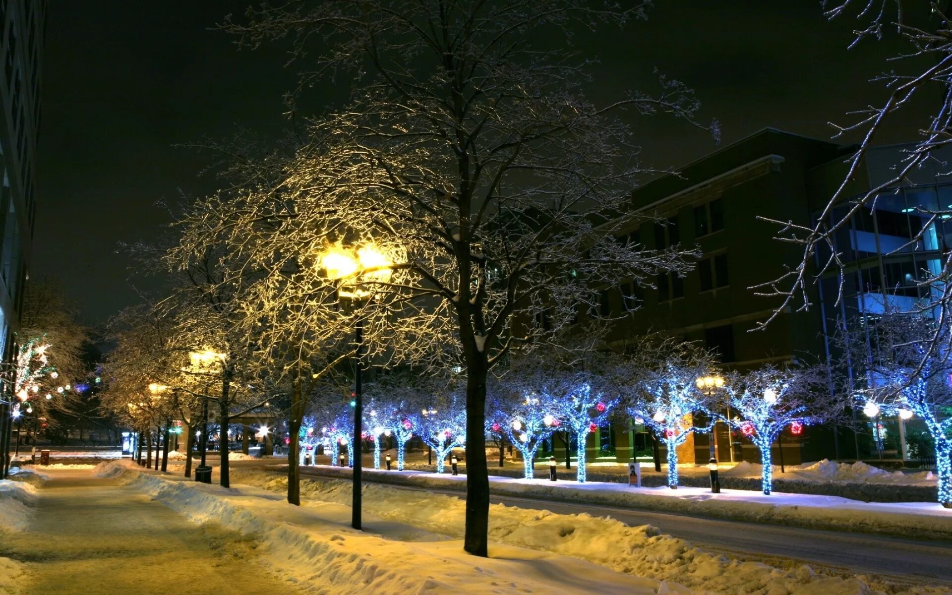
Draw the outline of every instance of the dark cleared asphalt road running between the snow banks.
M312 469L302 469L315 474ZM365 475L364 481L371 478ZM439 492L460 497L452 490L393 486L394 489ZM877 574L904 582L952 585L952 543L881 537L867 533L823 531L791 526L757 525L721 519L649 512L613 506L565 504L546 500L491 496L493 504L549 510L560 514L587 512L610 516L625 525L657 526L709 551L783 565L803 561L843 574Z

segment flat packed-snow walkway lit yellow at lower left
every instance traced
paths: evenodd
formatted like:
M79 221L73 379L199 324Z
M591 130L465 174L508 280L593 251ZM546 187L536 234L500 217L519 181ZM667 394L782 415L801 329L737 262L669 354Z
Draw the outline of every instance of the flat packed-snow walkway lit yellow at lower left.
M0 555L27 565L23 595L295 593L254 564L255 544L89 471L48 471L30 530Z

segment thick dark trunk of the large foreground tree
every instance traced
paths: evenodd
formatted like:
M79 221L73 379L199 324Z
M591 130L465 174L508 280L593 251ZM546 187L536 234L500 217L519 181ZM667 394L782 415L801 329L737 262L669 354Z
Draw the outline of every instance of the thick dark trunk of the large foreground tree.
M489 469L486 466L486 355L473 354L466 367L466 536L463 548L488 555Z

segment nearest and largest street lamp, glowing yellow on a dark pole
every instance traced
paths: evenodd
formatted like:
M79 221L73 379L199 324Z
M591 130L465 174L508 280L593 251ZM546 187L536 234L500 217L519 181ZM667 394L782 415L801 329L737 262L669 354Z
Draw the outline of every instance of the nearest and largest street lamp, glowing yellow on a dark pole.
M370 300L374 289L367 288L377 283L387 283L390 280L393 263L384 252L373 244L365 244L358 248L345 248L340 244L327 247L319 256L317 268L330 281L337 282L337 295L353 302ZM354 451L353 467L353 501L351 504L352 516L350 525L355 529L361 528L361 489L363 454L360 452L360 440L364 433L364 400L363 400L363 362L364 355L364 317L357 319L354 328L354 339L357 349L354 357L354 440L350 448Z

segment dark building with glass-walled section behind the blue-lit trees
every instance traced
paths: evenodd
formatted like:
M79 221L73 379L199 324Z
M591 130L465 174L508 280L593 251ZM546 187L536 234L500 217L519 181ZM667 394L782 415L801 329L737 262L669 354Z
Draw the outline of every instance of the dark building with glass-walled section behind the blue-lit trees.
M917 285L922 271L938 270L942 252L952 248L952 220L928 224L929 216L917 209L952 208L952 184L943 184L931 164L917 169L902 187L883 192L875 211L863 208L837 234L837 250L846 262L842 301L836 300L838 271L830 271L808 288L813 307L784 311L758 329L780 302L751 288L781 276L803 255L803 248L777 241L780 227L762 218L810 225L842 183L844 160L854 150L764 129L679 169L679 175L635 190L625 216L632 224L620 241L645 248L696 246L702 256L684 277L658 276L655 289L633 283L604 288L599 313L616 321L612 347L624 347L634 335L665 331L702 343L717 351L726 367L742 371L791 360L825 362L830 347L825 333L838 317L875 314L884 304L908 308L927 298ZM902 147L873 149L832 216L842 217L851 200L890 179L890 167L901 159ZM663 225L645 222L645 215ZM931 227L918 244L911 242L926 225ZM872 456L872 431L864 431L865 422L859 421L856 433L822 427L799 436L785 433L784 459L795 464ZM610 448L620 459L628 456L634 438L626 429L610 432ZM600 440L602 446L608 442L604 432ZM723 425L715 443L720 461L759 460L749 441L730 436ZM684 445L682 460L706 462L709 446L708 435L696 435Z

